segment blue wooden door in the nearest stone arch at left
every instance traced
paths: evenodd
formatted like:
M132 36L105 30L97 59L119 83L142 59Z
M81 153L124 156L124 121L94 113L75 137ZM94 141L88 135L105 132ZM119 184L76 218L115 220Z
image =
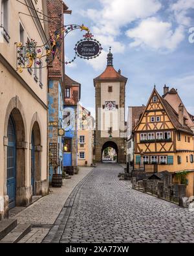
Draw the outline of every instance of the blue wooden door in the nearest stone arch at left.
M8 121L7 194L11 209L16 206L16 129L12 116Z

